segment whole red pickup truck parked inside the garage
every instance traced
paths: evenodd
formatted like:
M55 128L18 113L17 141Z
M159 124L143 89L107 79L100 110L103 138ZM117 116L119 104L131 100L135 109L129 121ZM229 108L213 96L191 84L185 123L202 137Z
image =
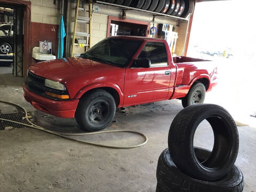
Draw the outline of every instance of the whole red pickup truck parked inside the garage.
M81 58L33 65L23 85L36 109L76 118L81 129L105 129L116 108L169 99L183 107L203 103L217 84L217 66L202 59L172 58L163 39L108 37Z

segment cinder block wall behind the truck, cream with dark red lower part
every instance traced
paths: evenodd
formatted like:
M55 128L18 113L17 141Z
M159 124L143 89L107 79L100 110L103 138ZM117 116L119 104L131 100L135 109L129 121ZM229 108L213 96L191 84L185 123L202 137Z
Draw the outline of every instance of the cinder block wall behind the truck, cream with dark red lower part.
M53 0L26 0L31 1L31 29L32 29L32 42L33 46L36 46L39 41L48 39L53 42L53 51L57 53L58 48L58 25L60 20L60 9L59 1L53 4ZM67 0L68 1L68 0ZM99 41L107 37L107 23L108 15L121 17L122 10L102 4L94 4L99 6L99 13L93 13L92 18L92 45L97 44ZM75 7L76 1L69 0L68 2L68 22L67 22L67 56L70 56L71 52L71 42L73 38L74 29L74 18L75 18ZM87 4L84 5L85 10L89 7ZM79 12L79 16L89 17L88 12ZM153 15L138 11L128 10L126 11L126 17L134 20L142 20L150 23L153 26ZM177 41L177 48L175 53L181 55L183 52L183 47L185 44L186 31L188 22L177 21L167 17L156 17L155 26L158 23L167 23L169 25L175 26L175 31L178 32L179 38ZM88 25L84 23L77 24L77 31L87 32L89 29ZM151 37L151 36L150 36ZM157 37L157 36L155 36ZM81 37L82 38L82 37ZM38 42L38 43L37 43ZM85 49L79 46L75 47L76 53L84 53Z

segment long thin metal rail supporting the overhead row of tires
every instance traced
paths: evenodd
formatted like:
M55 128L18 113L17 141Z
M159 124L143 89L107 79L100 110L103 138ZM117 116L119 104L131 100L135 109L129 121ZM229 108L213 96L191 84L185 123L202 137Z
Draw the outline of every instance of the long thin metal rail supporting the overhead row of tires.
M189 19L186 19L186 18L175 17L175 16L172 16L172 15L164 14L164 13L156 13L156 12L153 12L153 11L147 11L147 10L137 9L137 8L134 8L134 7L117 5L117 4L113 4L113 3L101 2L101 1L96 1L96 3L115 6L115 7L119 7L120 9L142 11L142 12L146 12L146 13L151 13L154 16L164 16L164 17L172 18L174 20L180 20L180 21L188 21L189 20Z

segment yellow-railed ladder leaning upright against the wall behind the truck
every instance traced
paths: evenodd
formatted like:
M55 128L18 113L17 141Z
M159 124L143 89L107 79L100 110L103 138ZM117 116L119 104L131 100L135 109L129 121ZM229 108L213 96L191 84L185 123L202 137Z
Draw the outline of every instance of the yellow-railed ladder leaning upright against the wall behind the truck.
M76 42L76 38L83 38L82 40L85 40L86 43L82 43L84 44L84 47L86 47L86 50L89 49L91 47L91 30L92 30L92 0L89 0L89 17L81 17L78 16L79 12L85 12L85 8L84 7L79 7L80 4L80 0L77 0L76 3L76 12L75 12L75 21L74 21L74 30L73 30L73 41L72 41L72 47L71 47L71 57L79 57L80 54L79 53L74 53L75 52L75 46L79 46L79 42ZM77 31L77 23L83 23L87 26L87 31Z

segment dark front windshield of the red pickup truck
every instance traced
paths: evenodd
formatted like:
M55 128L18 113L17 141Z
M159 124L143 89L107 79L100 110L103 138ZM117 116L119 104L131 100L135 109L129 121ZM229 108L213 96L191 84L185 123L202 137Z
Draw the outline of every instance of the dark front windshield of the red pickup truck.
M82 54L81 57L124 68L141 44L142 41L132 39L106 38Z

